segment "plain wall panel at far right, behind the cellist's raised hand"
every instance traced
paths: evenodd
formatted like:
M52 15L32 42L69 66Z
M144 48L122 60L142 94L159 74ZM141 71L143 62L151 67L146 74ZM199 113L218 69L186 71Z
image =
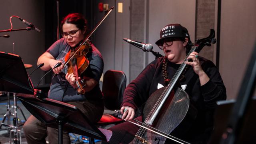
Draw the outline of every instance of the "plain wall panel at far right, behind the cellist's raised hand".
M222 0L220 74L228 99L236 98L256 43L256 1Z

